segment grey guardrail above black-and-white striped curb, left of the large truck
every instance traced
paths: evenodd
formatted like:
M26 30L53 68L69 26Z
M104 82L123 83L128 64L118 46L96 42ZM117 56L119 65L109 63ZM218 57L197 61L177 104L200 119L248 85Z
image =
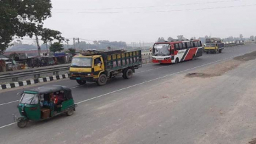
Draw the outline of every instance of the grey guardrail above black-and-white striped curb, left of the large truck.
M12 79L12 82L17 82L19 77L26 77L34 75L34 78L39 78L40 74L53 73L53 75L58 75L60 71L68 71L70 64L62 64L52 67L40 67L37 69L25 69L19 71L10 71L0 73L0 80Z

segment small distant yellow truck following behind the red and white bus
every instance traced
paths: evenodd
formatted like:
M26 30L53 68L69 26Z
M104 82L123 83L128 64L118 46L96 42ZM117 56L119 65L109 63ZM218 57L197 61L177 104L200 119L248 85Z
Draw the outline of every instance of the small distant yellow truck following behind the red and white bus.
M221 53L224 49L224 43L220 38L207 38L205 44L206 53Z

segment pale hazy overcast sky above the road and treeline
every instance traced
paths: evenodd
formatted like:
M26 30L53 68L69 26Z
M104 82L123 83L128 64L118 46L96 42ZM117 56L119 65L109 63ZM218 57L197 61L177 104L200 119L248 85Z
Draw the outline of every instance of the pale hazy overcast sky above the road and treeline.
M185 38L256 35L255 0L51 2L52 17L45 21L45 27L59 30L65 38L122 40L132 43L139 40L154 42L161 36L166 39L169 36L176 38L179 34L183 34Z

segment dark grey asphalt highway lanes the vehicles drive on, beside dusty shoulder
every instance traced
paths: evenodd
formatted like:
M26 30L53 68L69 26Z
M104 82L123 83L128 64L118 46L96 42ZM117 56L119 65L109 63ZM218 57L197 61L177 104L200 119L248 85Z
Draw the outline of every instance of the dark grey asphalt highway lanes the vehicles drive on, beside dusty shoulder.
M81 108L86 109L88 112L94 108L94 105L97 104L107 104L112 103L113 101L117 101L118 99L124 98L125 95L129 93L142 93L140 88L144 88L145 86L153 86L157 85L159 81L161 82L164 78L168 76L174 76L178 73L188 72L199 67L205 67L209 64L213 64L216 62L220 62L222 60L226 60L228 58L233 58L235 56L240 56L244 53L249 53L251 51L255 51L255 45L243 45L239 47L229 47L224 49L223 53L218 54L205 54L202 57L191 60L188 62L182 62L180 64L171 64L171 65L161 65L161 64L146 64L143 65L141 69L138 69L134 75L134 77L130 80L123 80L122 77L115 77L112 80L108 81L106 86L96 86L96 84L90 83L85 84L83 86L79 86L75 81L71 80L60 80L57 82L50 82L45 85L65 85L73 89L73 97L75 102L79 103L77 113L81 110ZM33 88L35 86L30 86ZM18 104L19 95L16 93L21 92L21 88L14 88L6 91L0 92L0 132L4 132L7 130L8 132L12 132L16 129L16 125L8 125L13 123L12 115L19 115L16 105ZM120 95L119 95L120 94ZM118 97L119 95L119 97ZM91 107L90 107L91 106ZM85 111L86 111L85 110ZM84 115L83 117L89 117L89 115ZM73 117L76 120L80 119L78 116ZM66 118L63 118L66 119ZM69 117L68 119L72 119ZM111 119L111 117L109 117ZM121 119L121 118L120 118ZM52 123L58 123L57 120L54 119ZM62 120L65 121L65 120ZM78 120L79 121L79 120ZM49 121L48 121L49 122ZM104 123L104 121L101 121ZM73 123L75 125L75 123ZM38 126L36 126L38 125ZM34 123L31 124L29 128L43 128L43 125L47 125L47 123ZM71 125L71 124L67 124ZM97 127L97 123L93 124ZM61 125L58 125L61 126ZM91 125L92 126L92 125ZM93 128L91 128L93 131ZM51 130L52 131L52 130ZM22 131L21 131L22 132ZM1 142L0 142L1 143Z

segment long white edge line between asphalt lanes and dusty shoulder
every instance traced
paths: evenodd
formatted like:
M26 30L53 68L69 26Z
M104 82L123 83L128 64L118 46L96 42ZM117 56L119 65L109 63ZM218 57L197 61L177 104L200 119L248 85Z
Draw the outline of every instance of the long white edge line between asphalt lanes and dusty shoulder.
M253 51L251 51L251 52L253 52ZM249 52L249 53L250 53L250 52ZM245 54L245 53L244 53L244 54ZM243 54L236 55L236 56L242 56L242 55L243 55ZM112 91L112 92L110 92L110 93L105 93L105 94L103 94L103 95L99 95L99 96L93 97L93 98L91 98L91 99L86 99L86 100L83 100L83 101L79 101L79 102L76 103L76 104L81 104L81 103L84 103L84 102L86 102L86 101L90 101L90 100L93 100L93 99L97 99L97 98L99 98L99 97L103 97L103 96L109 95L109 94L111 94L111 93L116 93L116 92L118 92L118 91L123 91L123 90L126 90L126 89L128 89L128 88L132 88L132 87L135 87L135 86L139 86L139 85L141 85L141 84L146 84L146 83L148 83L148 82L152 82L152 81L154 81L154 80L159 80L159 79L162 79L162 78L164 78L164 77L169 77L169 76L172 76L172 75L176 75L176 74L178 74L178 73L183 73L183 72L185 72L185 71L190 71L190 70L192 70L192 69L196 69L196 68L199 68L199 67L205 67L205 66L207 66L207 65L209 65L209 64L214 64L214 63L217 63L217 62L221 62L221 61L223 61L223 60L229 60L230 58L234 58L234 57L236 57L236 56L231 56L231 57L229 57L229 58L224 58L224 59L222 59L222 60L217 60L217 61L214 61L214 62L210 62L210 63L208 63L208 64L202 64L202 65L200 65L200 66L193 67L193 68L190 68L190 69L185 69L185 70L183 70L183 71L178 71L178 72L176 72L176 73L172 73L172 74L170 74L170 75L165 75L165 76L163 76L163 77L157 77L157 78L155 78L155 79L148 80L148 81L146 81L146 82L141 82L141 83L139 83L139 84L135 84L135 85L132 85L132 86L128 86L128 87L126 87L126 88L121 88L121 89L119 89L119 90L117 90L117 91ZM77 87L79 87L79 86L77 86ZM75 87L74 87L74 88L75 88ZM3 104L1 104L1 105L3 105ZM0 105L0 106L1 106L1 105ZM5 128L5 127L7 127L7 126L9 126L9 125L13 125L13 124L15 124L15 123L10 123L10 124L8 124L8 125L3 125L3 126L0 127L0 129L1 129L1 128Z

